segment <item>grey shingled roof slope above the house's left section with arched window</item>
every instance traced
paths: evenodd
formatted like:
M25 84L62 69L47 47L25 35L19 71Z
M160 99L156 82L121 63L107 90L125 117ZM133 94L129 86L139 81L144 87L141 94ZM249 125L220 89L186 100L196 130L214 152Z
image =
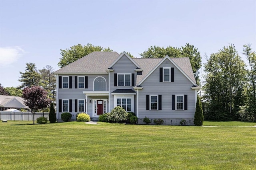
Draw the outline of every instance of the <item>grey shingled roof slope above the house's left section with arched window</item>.
M54 74L106 73L108 66L119 56L117 52L92 52L60 68Z

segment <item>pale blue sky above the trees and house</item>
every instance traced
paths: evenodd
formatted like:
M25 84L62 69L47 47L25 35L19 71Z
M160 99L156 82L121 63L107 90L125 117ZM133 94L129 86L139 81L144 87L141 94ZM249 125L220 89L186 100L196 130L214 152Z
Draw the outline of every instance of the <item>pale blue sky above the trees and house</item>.
M0 0L0 83L16 87L26 63L58 70L60 49L92 43L134 57L151 45L198 48L203 63L232 43L256 51L256 0Z

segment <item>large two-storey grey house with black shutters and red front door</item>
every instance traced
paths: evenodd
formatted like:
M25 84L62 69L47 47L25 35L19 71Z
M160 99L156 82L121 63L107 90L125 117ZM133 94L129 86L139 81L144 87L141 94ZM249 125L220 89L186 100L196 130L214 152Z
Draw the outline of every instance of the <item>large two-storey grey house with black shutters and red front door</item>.
M93 52L57 70L57 119L86 112L92 119L116 106L144 117L193 125L197 90L189 58L130 58Z

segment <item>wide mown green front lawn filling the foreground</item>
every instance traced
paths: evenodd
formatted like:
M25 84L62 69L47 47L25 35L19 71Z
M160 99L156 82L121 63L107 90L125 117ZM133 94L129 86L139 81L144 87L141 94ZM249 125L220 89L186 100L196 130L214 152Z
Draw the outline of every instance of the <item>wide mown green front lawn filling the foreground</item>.
M256 170L255 127L0 122L0 169Z

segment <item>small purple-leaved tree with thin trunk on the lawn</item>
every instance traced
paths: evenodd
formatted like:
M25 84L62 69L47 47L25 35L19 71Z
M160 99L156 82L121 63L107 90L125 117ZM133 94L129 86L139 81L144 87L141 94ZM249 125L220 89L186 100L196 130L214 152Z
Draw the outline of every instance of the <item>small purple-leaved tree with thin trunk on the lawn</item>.
M27 87L23 90L22 98L25 100L24 104L32 110L33 124L35 124L35 111L46 108L51 102L47 94L40 86Z

